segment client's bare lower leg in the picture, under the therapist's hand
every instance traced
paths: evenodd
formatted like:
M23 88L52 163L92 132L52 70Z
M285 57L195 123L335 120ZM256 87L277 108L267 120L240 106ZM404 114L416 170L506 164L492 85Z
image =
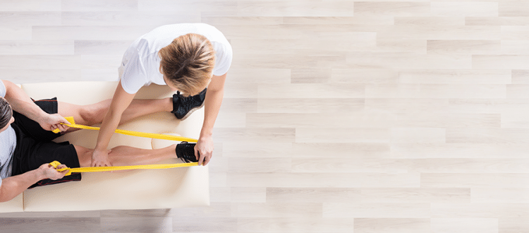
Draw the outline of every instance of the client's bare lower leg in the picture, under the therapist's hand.
M79 158L80 166L90 167L92 164L93 150L80 145L74 145L74 147ZM112 166L150 165L169 158L176 158L175 148L176 144L169 145L166 148L152 150L120 145L111 149L109 159Z

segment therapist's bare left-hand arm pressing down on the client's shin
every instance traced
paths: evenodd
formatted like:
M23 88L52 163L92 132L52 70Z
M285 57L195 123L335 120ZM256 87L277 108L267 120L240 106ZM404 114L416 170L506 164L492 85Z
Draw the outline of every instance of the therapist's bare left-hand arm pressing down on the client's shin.
M109 146L110 138L114 131L118 128L119 121L121 121L121 114L130 105L136 94L129 94L123 87L121 87L121 80L118 83L114 97L109 107L107 115L104 117L101 124L101 129L97 136L97 144L92 153L92 167L111 167L109 160Z

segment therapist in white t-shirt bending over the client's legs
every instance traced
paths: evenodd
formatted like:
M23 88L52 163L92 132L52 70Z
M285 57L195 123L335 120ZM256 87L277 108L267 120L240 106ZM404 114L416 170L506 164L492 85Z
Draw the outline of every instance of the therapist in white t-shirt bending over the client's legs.
M121 115L142 86L156 83L178 90L163 107L186 119L205 107L204 122L195 145L198 165L207 165L214 150L212 129L224 97L224 82L233 52L226 37L205 23L164 25L135 40L118 68L119 83L104 117L92 153L92 167L112 166L107 147ZM122 122L123 123L123 122Z

